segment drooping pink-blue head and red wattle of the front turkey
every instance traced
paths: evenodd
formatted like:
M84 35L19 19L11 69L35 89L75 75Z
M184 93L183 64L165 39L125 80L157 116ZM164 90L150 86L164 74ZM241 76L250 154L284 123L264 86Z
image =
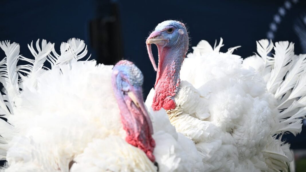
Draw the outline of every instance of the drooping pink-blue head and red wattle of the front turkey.
M125 141L143 150L155 162L155 141L151 119L142 97L143 75L130 61L121 60L113 68L112 85L126 131Z

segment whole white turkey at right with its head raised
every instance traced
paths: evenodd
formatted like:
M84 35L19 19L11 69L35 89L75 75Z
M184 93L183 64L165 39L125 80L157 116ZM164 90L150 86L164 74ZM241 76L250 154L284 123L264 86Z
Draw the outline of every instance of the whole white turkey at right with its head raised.
M205 40L187 55L183 23L158 24L146 40L157 71L151 114L166 110L177 132L190 138L209 171L288 171L293 155L282 141L300 133L306 114L306 55L292 42L257 41L257 53L242 59L240 46L220 52ZM156 67L151 44L158 48ZM274 54L271 57L274 49Z

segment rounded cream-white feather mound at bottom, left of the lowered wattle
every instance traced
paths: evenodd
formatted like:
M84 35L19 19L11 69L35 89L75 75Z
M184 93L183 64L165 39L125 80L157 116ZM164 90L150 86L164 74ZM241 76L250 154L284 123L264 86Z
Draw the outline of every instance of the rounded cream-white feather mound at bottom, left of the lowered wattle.
M74 158L74 161L70 172L157 170L143 151L116 136L93 140L83 153Z

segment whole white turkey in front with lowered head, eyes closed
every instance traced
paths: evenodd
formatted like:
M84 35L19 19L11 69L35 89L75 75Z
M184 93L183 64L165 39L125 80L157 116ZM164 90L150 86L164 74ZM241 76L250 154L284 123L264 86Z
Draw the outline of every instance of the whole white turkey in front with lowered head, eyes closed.
M80 39L60 46L1 42L0 155L6 172L200 171L194 143L177 133L166 112L150 116L143 75L130 61L81 61ZM29 64L17 66L18 60ZM50 68L44 65L50 62ZM45 63L46 62L46 63ZM151 122L152 120L152 122Z

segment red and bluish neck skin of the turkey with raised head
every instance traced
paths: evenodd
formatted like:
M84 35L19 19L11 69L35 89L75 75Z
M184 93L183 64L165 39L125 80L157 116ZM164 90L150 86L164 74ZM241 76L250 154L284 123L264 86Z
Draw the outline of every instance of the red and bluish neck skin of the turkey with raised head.
M157 47L159 62L152 108L154 111L170 110L176 107L174 96L179 91L180 70L187 50L181 46Z

